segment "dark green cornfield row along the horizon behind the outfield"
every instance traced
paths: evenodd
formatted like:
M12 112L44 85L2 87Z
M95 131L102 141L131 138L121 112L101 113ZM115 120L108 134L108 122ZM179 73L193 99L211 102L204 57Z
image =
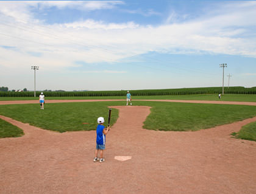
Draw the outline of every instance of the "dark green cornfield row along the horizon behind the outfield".
M225 94L256 94L256 87L229 87L224 88ZM55 92L43 91L48 97L99 97L99 96L122 96L126 91L81 91L81 92ZM180 88L180 89L142 89L130 91L132 95L189 95L189 94L218 94L222 92L221 87L212 88ZM41 91L37 91L39 96ZM34 97L34 91L28 92L0 92L0 97Z

